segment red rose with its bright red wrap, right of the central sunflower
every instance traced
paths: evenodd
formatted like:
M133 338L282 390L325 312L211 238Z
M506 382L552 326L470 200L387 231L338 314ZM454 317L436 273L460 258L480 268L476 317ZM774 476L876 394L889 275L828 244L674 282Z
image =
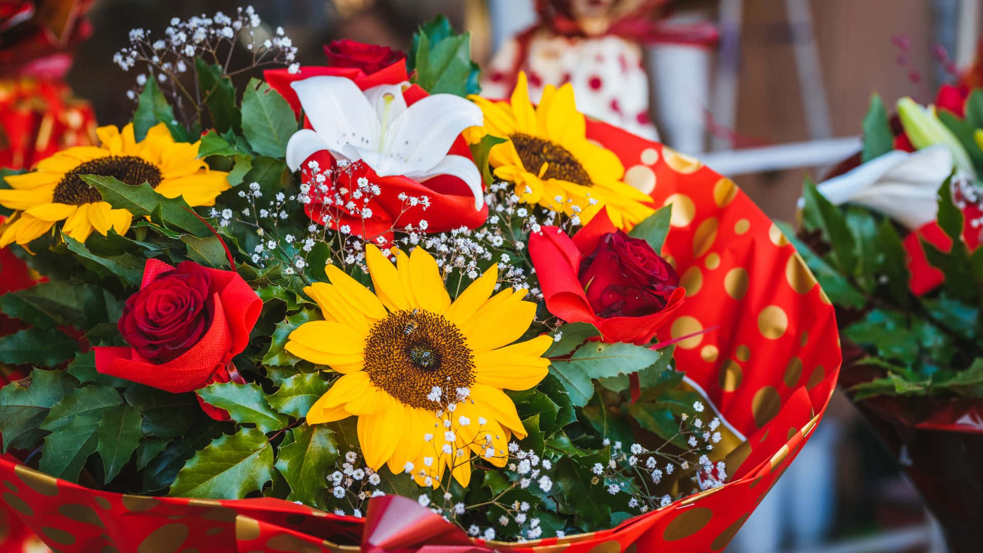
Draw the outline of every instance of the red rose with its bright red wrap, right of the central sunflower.
M594 325L605 341L648 343L686 295L672 267L605 210L573 237L543 227L529 237L529 255L549 312Z

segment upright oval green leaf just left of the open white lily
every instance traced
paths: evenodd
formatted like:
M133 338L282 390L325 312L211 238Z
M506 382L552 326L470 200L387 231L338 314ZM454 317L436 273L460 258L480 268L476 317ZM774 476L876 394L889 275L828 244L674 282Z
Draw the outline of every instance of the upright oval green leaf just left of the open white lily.
M243 93L243 135L260 155L283 157L287 142L297 131L294 110L279 92L259 79L251 79Z

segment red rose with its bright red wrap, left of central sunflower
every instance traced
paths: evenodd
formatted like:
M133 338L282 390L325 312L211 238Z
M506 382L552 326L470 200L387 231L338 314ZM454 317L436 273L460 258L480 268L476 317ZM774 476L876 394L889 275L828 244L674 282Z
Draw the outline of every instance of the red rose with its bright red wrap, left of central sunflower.
M173 394L228 382L232 357L246 348L261 308L233 271L147 260L141 289L119 321L131 347L96 347L95 368Z

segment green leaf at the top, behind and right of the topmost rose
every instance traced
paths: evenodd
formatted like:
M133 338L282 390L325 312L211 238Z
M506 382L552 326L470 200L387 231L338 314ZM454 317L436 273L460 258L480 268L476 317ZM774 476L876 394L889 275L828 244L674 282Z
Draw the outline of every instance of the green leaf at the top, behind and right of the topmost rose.
M443 16L421 26L410 51L414 75L411 81L432 94L459 96L481 92L477 64L471 61L471 35L451 30Z

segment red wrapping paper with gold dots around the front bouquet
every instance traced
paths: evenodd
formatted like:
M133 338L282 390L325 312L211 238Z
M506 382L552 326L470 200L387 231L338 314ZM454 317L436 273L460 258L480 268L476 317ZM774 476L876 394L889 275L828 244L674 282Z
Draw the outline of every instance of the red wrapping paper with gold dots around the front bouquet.
M673 204L662 254L688 297L658 338L689 337L676 342L678 367L747 440L726 454L729 478L722 487L616 527L521 544L467 543L477 547L472 551L721 551L826 410L840 365L833 306L779 228L732 181L603 123L588 121L587 129L588 138L621 158L629 183L659 206ZM6 460L0 480L10 492L3 499L16 496L11 506L24 522L65 552L99 551L109 543L120 550L153 544L145 550L338 552L359 551L364 540L376 547L366 550L388 553L467 551L459 549L463 532L439 531L445 527L434 521L443 523L439 518L416 522L420 531L434 532L426 534L426 547L416 535L380 548L378 520L408 514L405 501L384 496L370 502L369 520L360 521L273 499L122 496Z

